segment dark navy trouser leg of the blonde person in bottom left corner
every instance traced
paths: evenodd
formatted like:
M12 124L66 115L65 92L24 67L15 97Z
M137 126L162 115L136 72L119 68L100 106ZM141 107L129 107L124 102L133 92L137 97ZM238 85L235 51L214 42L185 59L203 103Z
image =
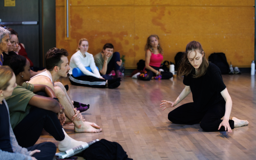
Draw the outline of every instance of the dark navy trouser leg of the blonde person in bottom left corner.
M56 153L56 146L52 142L43 142L35 146L28 147L27 149L28 151L33 151L35 149L41 151L32 155L32 157L35 157L37 160L52 160Z

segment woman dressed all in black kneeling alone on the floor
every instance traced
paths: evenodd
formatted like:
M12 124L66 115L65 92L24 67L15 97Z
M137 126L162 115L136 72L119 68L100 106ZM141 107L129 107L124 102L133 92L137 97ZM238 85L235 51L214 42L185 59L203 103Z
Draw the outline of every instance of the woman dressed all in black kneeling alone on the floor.
M192 92L193 101L183 104L168 114L168 119L175 124L198 124L207 132L228 131L234 127L249 124L229 116L232 100L223 83L220 69L205 58L205 53L199 42L188 43L183 54L177 75L184 76L185 88L174 101L161 101L160 107L176 106ZM163 110L164 110L163 109ZM220 119L220 118L223 118Z

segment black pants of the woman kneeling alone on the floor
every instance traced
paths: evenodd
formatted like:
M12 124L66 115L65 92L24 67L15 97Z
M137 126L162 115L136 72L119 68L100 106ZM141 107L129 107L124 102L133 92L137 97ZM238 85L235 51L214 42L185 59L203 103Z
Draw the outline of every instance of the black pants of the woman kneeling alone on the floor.
M198 124L207 132L225 131L225 127L221 126L218 130L222 118L225 114L225 100L213 105L205 112L195 110L194 102L186 103L172 110L168 114L168 119L175 124ZM229 120L231 129L234 129L234 121Z

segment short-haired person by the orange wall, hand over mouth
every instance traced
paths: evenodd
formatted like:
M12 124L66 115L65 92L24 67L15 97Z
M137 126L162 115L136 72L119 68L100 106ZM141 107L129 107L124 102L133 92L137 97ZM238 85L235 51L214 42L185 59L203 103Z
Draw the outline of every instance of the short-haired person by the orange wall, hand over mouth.
M110 72L115 70L115 78L120 77L120 66L122 60L120 59L119 52L114 52L114 46L111 43L107 43L103 46L100 53L96 54L93 58L96 66L99 68L100 75L107 79L112 79Z

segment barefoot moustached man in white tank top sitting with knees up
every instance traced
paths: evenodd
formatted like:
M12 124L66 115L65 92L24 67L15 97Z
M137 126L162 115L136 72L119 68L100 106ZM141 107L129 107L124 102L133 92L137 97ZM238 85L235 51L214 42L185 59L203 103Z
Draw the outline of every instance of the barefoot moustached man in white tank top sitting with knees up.
M100 132L102 130L100 126L95 123L86 122L83 117L81 117L82 121L75 121L72 118L76 114L74 112L76 109L74 109L73 105L78 105L78 102L71 101L63 84L55 82L60 77L68 76L70 69L68 55L65 49L50 49L45 56L46 71L32 77L29 83L47 85L55 92L57 98L60 100L60 104L65 108L66 122L73 122L75 124L75 132Z

